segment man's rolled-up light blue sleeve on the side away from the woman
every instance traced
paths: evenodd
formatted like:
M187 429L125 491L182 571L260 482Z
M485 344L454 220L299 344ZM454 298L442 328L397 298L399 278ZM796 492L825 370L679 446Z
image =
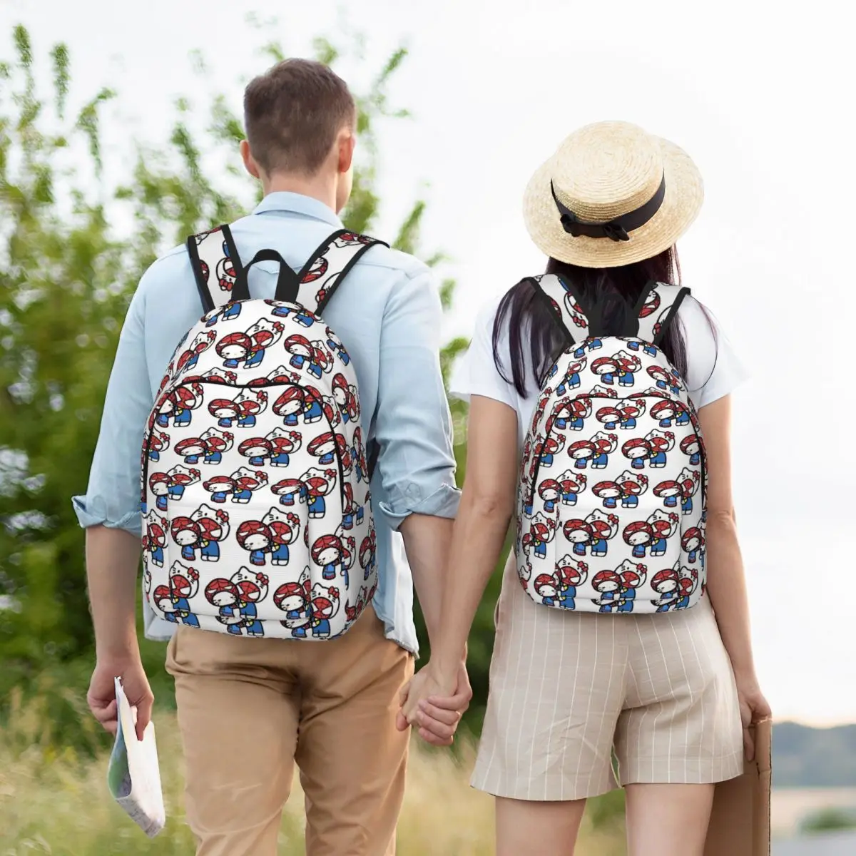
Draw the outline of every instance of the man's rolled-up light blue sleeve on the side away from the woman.
M140 282L122 325L86 494L72 497L80 526L104 525L134 534L141 530L140 450L153 404L142 286Z

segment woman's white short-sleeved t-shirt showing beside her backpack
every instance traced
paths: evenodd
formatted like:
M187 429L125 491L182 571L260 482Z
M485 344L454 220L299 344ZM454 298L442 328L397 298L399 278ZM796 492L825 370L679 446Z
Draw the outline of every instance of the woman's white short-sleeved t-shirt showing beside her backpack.
M521 396L496 370L493 359L493 323L502 296L491 300L479 312L471 342L466 354L461 356L451 378L451 393L467 401L470 395L484 395L502 401L517 412L517 427L520 448L523 447L525 426L532 421L538 401L538 385L532 375L530 360L526 360L528 379L526 395ZM728 343L716 321L704 314L698 301L687 296L678 309L682 330L687 343L687 388L696 408L704 407L732 390L746 379L746 371L740 364L733 348ZM673 324L675 322L673 321ZM711 330L713 324L713 330ZM714 332L716 331L716 332ZM526 348L524 348L526 354ZM498 347L503 373L511 375L511 359L508 348L508 325L502 330Z

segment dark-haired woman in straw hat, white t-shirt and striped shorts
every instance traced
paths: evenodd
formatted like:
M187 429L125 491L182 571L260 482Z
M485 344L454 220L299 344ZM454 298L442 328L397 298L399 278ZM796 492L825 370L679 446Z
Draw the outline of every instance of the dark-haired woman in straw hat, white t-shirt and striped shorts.
M752 662L731 495L729 393L742 380L740 364L692 298L675 300L680 307L674 318L661 315L653 327L650 319L639 320L655 312L660 300L649 291L650 282L680 278L675 241L698 214L702 195L690 158L640 128L602 122L572 134L532 178L524 206L532 240L549 257L548 274L560 277L541 282L562 282L568 292L570 308L558 302L552 307L568 321L568 333L550 302L537 294L541 286L524 280L479 317L461 372L457 393L471 402L467 480L450 546L443 633L431 662L404 694L403 714L415 725L445 719L449 734L454 730L456 714L445 708L455 692L457 663L519 508L518 561L514 553L509 557L502 580L490 698L473 774L474 787L496 796L500 856L527 853L533 846L539 856L573 853L586 799L615 787L613 751L617 779L627 794L630 856L701 856L713 785L740 775L744 752L752 755L747 726L770 714ZM678 290L665 286L662 293ZM591 329L592 318L597 330ZM580 330L574 331L574 324ZM645 329L651 336L643 335ZM660 335L662 365L676 374L652 364L657 355L652 342ZM625 337L619 342L621 356L607 347L608 336ZM636 528L644 530L645 538L637 538L632 526L623 540L621 531L615 538L609 515L617 519L617 514L610 510L601 508L588 523L582 520L578 512L586 502L591 508L597 508L591 503L603 505L585 492L573 509L559 506L556 524L537 493L532 508L533 490L515 504L518 479L527 472L535 478L538 468L538 450L531 448L537 443L530 436L520 473L527 431L536 426L550 430L550 405L547 412L541 408L555 401L548 395L550 383L561 381L550 372L557 357L560 365L569 365L568 360L582 356L590 366L605 360L594 370L599 377L587 383L619 378L625 385L635 383L648 408L685 389L694 405L688 407L692 430L704 437L706 449L704 517L698 488L695 511L687 502L675 508L679 514L663 507L654 488L669 470L651 467L666 467L667 450L678 454L670 450L678 429L663 431L656 414L644 415L642 407L636 419L645 427L634 427L634 435L645 437L640 431L654 430L610 455L610 467L617 467L615 473L626 468L625 473L613 476L610 469L609 475L590 479L589 487L603 479L633 481L638 490L627 495L632 502L622 502L616 512L638 516L643 522ZM615 369L603 374L610 356ZM640 369L634 380L640 360L655 370ZM615 389L620 391L610 391ZM573 399L578 391L567 395ZM632 392L614 383L597 387L592 395L616 399L617 408L618 399ZM568 448L556 455L556 472L574 466L576 443L615 428L597 421L596 412L606 402L591 401L593 408L583 408L590 413L585 430L568 437ZM677 434L679 443L682 436ZM636 460L634 443L646 460ZM632 467L642 466L647 475L634 475L639 469ZM554 470L547 471L550 479L556 478ZM687 476L689 488L693 478ZM662 561L645 555L643 542L649 530L678 531L676 549L681 550L675 523L681 512L698 514L706 528L705 546L697 547L700 542L693 539L693 565L663 568ZM568 519L562 532L562 520L571 517L580 520ZM598 520L598 550L591 547L586 554L586 538L595 544L594 535L585 535L586 526L597 527ZM584 533L579 543L578 530ZM526 532L522 539L521 531ZM554 548L547 544L554 537L567 540ZM604 558L607 544L609 559ZM545 550L556 556L555 568L554 562L544 562ZM628 558L616 568L621 550L642 558ZM562 552L567 555L560 559ZM702 567L706 588L704 576L699 578ZM590 587L582 597L586 579Z

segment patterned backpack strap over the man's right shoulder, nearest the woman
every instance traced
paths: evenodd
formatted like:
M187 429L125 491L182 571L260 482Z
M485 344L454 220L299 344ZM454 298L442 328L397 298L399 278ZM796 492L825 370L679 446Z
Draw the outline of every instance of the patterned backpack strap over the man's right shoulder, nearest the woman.
M332 300L336 288L342 284L345 276L363 253L378 244L389 247L385 241L370 238L367 235L357 235L348 229L340 229L327 238L318 249L312 253L306 265L295 277L295 282L288 288L291 294L281 296L276 289L276 300L288 300L320 315Z

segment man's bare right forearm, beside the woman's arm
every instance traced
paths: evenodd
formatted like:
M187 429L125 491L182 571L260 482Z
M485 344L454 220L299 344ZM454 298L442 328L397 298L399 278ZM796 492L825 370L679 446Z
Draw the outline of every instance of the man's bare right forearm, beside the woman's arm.
M411 514L401 524L407 562L413 572L413 586L425 617L431 647L437 641L440 610L453 521L427 514Z

